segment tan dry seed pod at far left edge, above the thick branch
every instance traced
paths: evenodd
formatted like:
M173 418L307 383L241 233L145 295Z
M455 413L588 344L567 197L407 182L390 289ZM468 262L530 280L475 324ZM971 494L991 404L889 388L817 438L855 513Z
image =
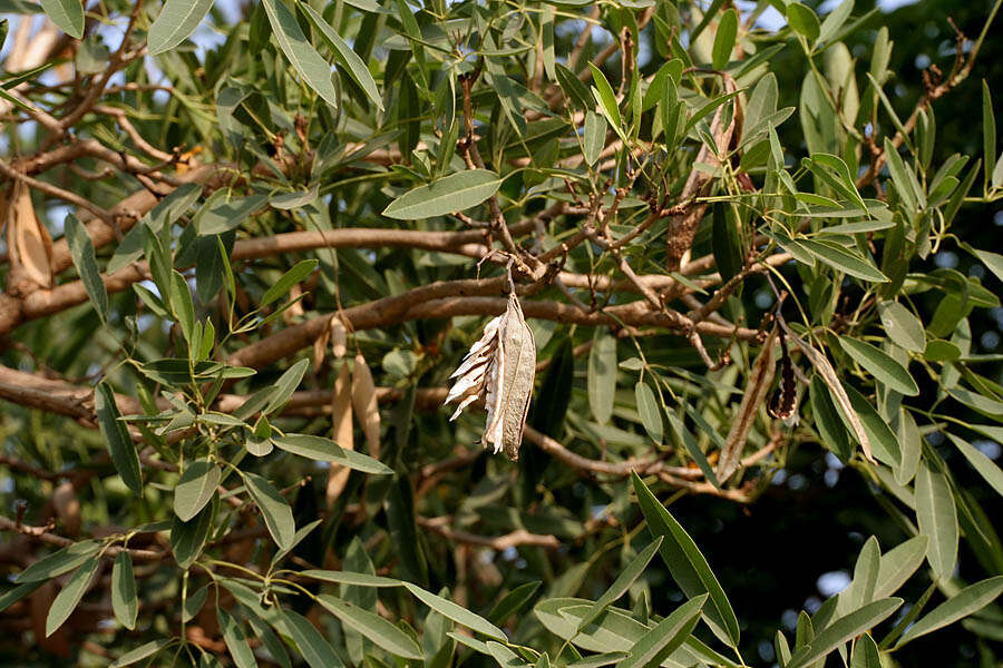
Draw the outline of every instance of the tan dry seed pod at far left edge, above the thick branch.
M52 287L52 238L35 215L31 191L20 180L14 181L7 206L7 246L11 263L8 289Z

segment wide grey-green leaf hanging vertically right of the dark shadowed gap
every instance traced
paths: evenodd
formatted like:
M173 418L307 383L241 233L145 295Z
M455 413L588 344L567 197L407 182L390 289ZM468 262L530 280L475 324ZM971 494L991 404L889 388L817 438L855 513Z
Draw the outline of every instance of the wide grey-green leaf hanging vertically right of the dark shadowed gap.
M947 478L921 462L916 473L916 520L919 533L929 537L926 559L937 579L954 572L957 561L957 508Z

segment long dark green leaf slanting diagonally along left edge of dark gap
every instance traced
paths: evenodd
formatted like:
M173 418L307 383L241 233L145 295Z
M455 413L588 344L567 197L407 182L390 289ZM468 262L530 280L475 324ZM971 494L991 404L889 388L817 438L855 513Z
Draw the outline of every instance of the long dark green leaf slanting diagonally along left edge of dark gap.
M652 536L662 536L666 539L662 542L659 551L665 566L669 567L672 578L683 593L690 598L704 592L710 595L711 605L703 610L708 626L722 642L738 647L738 619L707 559L685 529L659 502L637 474L632 473L631 475L641 511L644 513L644 519L647 520L649 531Z

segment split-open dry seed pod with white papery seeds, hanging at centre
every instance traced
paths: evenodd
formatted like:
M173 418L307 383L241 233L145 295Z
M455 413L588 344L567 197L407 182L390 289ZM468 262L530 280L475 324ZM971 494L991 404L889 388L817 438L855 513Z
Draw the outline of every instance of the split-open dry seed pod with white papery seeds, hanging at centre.
M485 325L484 335L450 376L456 384L444 403L460 400L450 420L478 399L484 400L487 421L481 444L517 460L535 374L533 331L523 317L518 297L512 293L505 313Z

